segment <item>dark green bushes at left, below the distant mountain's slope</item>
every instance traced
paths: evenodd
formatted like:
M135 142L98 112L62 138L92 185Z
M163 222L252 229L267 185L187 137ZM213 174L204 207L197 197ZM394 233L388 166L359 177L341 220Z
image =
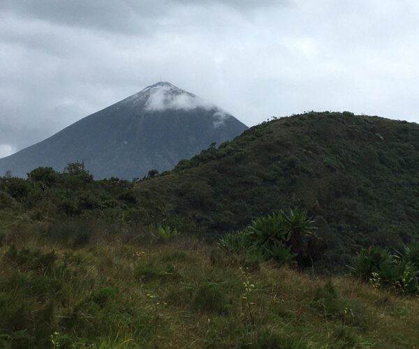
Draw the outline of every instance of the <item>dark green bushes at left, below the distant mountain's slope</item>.
M110 209L119 210L129 219L142 211L132 186L132 182L116 178L94 181L82 163L68 164L64 173L36 168L27 179L0 177L0 208L33 210L40 221L63 216L105 216L112 220Z

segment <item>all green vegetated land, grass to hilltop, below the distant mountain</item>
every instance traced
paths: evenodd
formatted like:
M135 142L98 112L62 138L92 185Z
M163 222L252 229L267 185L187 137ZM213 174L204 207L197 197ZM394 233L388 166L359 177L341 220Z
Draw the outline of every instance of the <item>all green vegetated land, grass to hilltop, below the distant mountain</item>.
M418 170L416 124L311 112L142 180L7 174L0 348L417 347Z

